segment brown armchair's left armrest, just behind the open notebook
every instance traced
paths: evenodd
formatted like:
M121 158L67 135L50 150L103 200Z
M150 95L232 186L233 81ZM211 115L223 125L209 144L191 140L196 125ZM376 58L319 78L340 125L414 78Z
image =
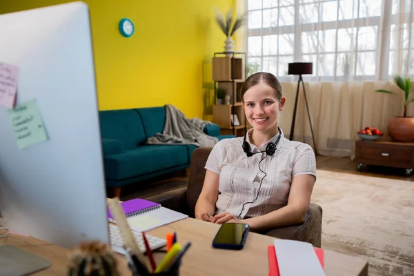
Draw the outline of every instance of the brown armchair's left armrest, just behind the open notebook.
M157 202L165 208L188 215L187 188L170 190L169 192L147 197L146 199L152 202Z

